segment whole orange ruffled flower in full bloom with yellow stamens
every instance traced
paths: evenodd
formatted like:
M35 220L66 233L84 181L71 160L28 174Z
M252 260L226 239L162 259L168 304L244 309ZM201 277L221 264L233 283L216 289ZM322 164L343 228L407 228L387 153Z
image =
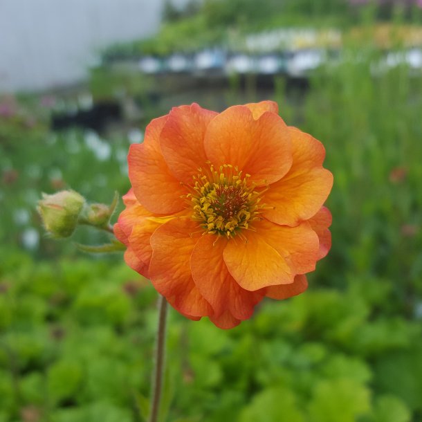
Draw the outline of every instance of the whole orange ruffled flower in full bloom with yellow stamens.
M271 101L176 107L131 145L114 231L127 264L187 318L235 327L263 297L305 291L331 247L324 147L277 113Z

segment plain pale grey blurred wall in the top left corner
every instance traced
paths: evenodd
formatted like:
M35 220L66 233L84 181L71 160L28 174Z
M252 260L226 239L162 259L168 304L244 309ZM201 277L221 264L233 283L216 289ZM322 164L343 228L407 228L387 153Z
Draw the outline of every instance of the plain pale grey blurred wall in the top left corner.
M82 79L95 51L158 29L163 0L0 0L0 92Z

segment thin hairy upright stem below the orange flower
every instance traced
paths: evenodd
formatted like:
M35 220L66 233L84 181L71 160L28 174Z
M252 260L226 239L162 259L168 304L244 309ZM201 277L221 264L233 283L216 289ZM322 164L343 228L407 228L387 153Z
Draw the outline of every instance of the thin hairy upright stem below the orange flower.
M155 351L155 367L152 378L151 408L149 422L158 421L160 410L161 389L163 387L163 374L165 367L165 325L167 319L167 300L165 297L158 297L158 331Z

